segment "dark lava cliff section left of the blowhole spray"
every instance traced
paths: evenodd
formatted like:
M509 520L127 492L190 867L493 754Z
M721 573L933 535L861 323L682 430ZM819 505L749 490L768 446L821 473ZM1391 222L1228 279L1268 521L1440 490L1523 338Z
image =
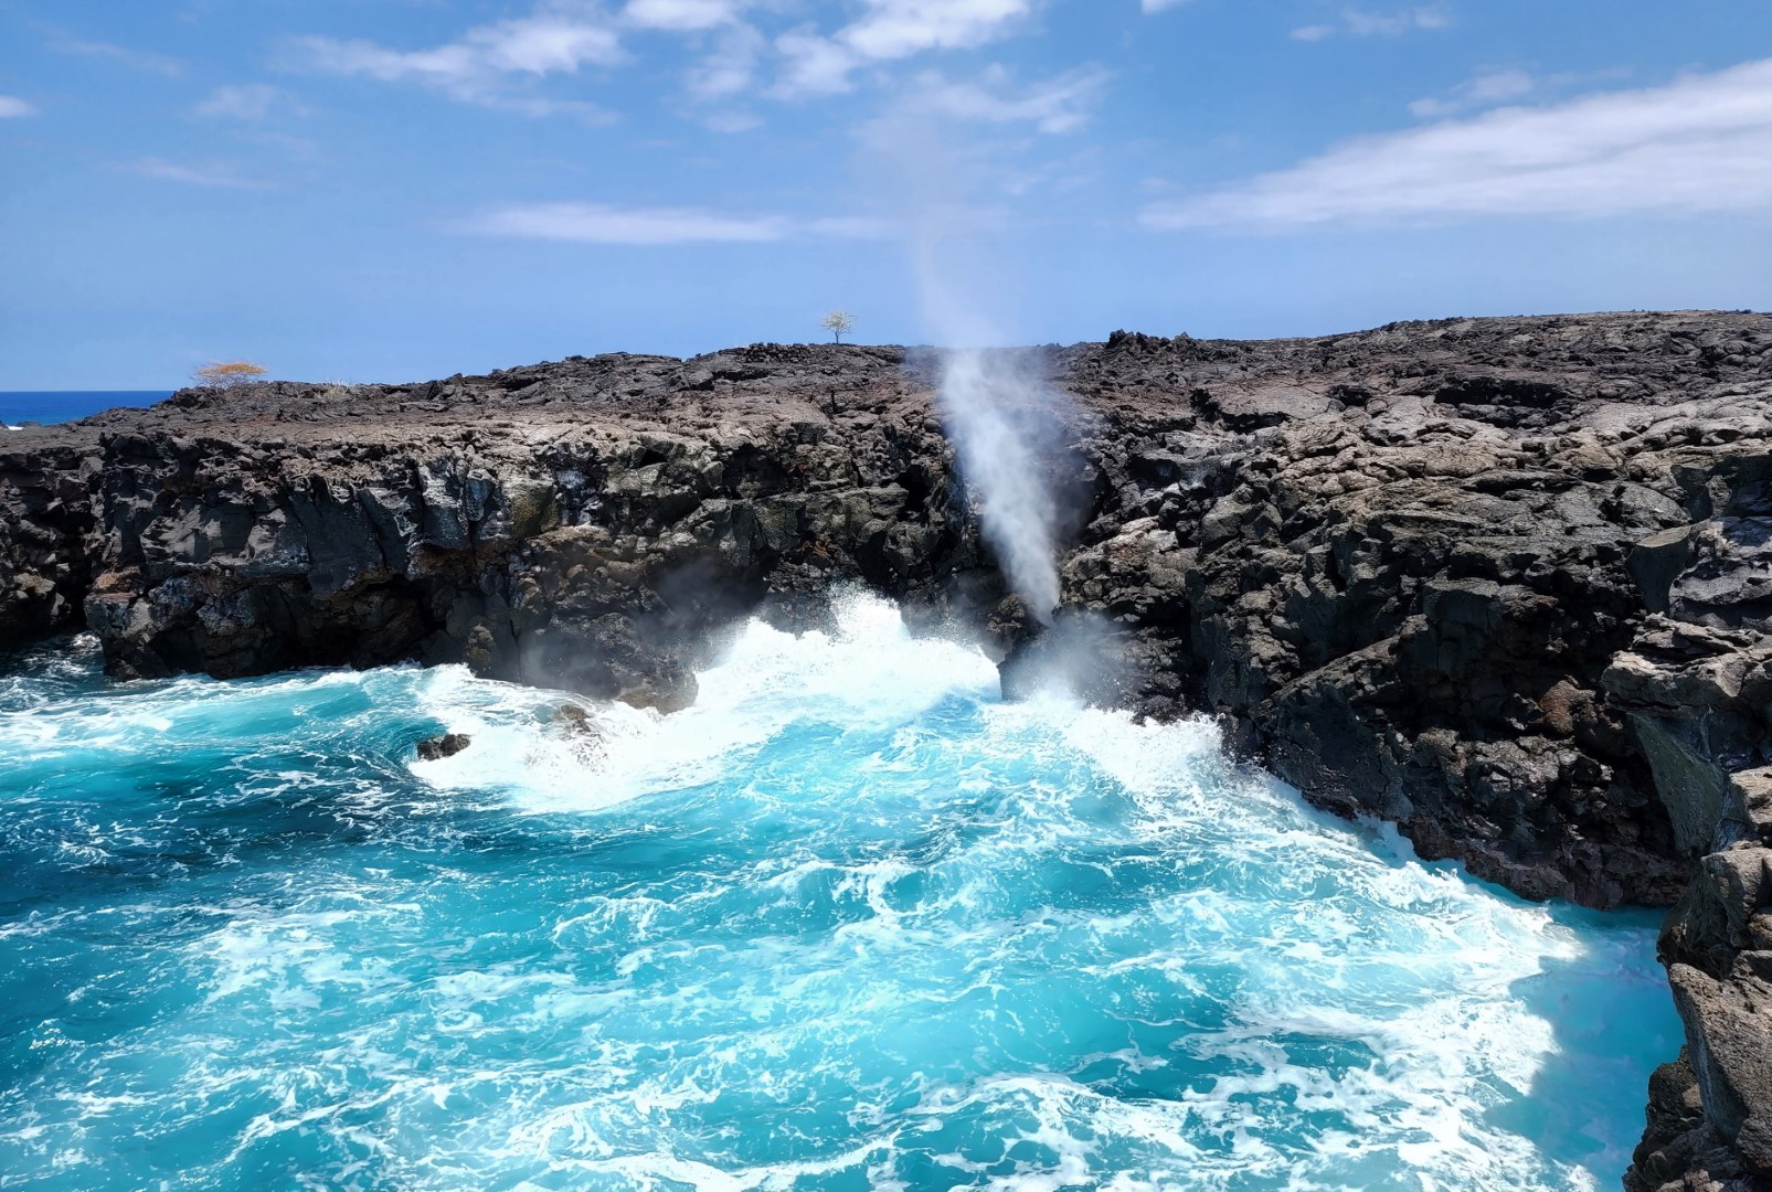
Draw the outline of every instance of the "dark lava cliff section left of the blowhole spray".
M760 606L812 615L833 579L941 606L980 567L911 391L897 349L767 349L21 432L0 634L83 620L122 677L416 657L673 710Z

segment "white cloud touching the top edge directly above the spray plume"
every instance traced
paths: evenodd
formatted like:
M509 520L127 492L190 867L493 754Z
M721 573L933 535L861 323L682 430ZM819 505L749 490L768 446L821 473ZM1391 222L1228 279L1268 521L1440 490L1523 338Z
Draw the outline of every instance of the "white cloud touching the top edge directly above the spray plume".
M1033 0L867 0L867 12L826 37L796 30L776 39L787 58L781 94L849 90L870 62L929 50L969 50L1003 37L1033 12Z

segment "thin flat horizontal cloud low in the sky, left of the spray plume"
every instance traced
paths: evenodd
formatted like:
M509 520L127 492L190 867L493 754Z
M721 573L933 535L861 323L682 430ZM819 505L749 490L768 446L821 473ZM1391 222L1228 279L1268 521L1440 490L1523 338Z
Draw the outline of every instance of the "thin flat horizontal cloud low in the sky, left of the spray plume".
M454 225L455 232L578 244L758 244L796 234L879 236L870 220L734 216L700 207L615 207L588 202L509 204Z

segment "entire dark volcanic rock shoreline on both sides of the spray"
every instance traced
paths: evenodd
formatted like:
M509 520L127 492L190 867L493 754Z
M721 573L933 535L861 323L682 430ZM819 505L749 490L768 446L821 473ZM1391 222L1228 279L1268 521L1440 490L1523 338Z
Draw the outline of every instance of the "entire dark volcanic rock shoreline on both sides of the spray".
M1772 1176L1772 317L1116 333L1069 397L1060 629L1145 716L1531 898L1671 905L1687 1052L1632 1188ZM0 648L120 677L399 659L679 708L833 584L1042 634L890 347L572 358L413 386L186 390L0 439ZM1772 1185L1767 1185L1772 1187Z

